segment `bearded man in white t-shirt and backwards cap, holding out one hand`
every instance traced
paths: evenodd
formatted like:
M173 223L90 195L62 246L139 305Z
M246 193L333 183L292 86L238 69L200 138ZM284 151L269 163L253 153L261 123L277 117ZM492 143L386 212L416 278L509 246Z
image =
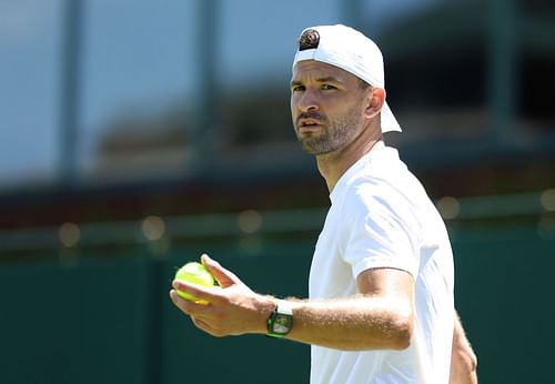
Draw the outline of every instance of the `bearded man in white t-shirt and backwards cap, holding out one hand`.
M385 102L380 49L344 26L304 30L291 113L332 203L312 261L310 299L258 294L202 255L223 289L174 281L175 290L210 305L172 291L174 304L215 336L261 333L311 344L311 383L447 383L451 364L454 383L463 375L472 383L445 225L383 143L383 132L401 128Z

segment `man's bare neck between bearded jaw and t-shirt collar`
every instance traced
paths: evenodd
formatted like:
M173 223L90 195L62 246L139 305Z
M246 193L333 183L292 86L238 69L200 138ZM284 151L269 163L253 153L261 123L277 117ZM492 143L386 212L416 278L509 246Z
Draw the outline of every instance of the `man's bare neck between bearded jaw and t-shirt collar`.
M316 156L317 169L322 178L324 178L330 193L332 193L335 184L346 170L372 151L374 145L380 141L382 141L381 137L365 142L354 141L341 150Z

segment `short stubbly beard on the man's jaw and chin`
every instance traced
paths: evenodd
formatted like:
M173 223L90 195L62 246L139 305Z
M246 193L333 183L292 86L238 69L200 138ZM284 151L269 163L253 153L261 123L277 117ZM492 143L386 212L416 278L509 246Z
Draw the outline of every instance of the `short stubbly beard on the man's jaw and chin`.
M304 118L317 119L322 129L320 132L296 138L302 149L313 155L326 154L346 146L353 142L360 134L362 127L362 117L360 115L360 105L353 105L345 114L337 119L329 120L321 113L305 113ZM296 125L295 125L296 127Z

